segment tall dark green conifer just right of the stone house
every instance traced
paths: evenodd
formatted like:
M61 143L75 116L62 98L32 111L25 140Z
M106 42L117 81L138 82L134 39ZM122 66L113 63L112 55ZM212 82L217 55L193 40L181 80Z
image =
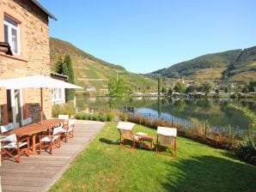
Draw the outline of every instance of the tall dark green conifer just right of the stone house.
M72 67L72 62L70 55L65 55L64 62L63 62L63 74L68 75L69 79L68 82L74 83L74 70ZM74 89L65 89L65 96L66 100L70 101L75 98L75 90Z

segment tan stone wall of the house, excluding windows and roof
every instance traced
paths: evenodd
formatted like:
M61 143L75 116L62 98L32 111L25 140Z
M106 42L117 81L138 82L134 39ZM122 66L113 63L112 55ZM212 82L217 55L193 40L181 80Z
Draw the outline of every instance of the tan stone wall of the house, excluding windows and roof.
M21 56L7 56L0 53L0 80L26 75L50 76L50 49L48 15L29 0L0 1L0 31L3 32L3 16L8 15L19 23ZM0 33L0 41L4 41ZM3 123L8 117L6 90L0 89L0 105L3 106ZM44 89L43 111L46 118L52 117L51 90ZM24 117L40 119L40 89L23 89Z

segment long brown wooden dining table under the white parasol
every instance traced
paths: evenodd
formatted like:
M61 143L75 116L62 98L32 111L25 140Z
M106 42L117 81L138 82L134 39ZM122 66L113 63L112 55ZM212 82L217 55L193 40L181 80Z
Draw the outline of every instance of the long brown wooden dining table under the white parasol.
M29 123L24 125L18 129L13 129L9 131L9 135L15 134L18 137L29 135L32 136L32 152L36 153L36 135L42 131L46 131L47 129L51 129L52 127L58 126L61 123L64 123L64 119L46 119L37 123Z

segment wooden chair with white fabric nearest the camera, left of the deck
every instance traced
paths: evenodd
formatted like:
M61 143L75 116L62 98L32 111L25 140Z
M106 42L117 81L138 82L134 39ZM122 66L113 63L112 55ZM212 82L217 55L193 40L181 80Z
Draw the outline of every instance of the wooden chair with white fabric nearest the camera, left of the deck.
M15 134L7 135L2 143L1 159L3 159L3 156L9 156L20 163L21 153L26 153L27 157L29 156L29 137L19 140Z

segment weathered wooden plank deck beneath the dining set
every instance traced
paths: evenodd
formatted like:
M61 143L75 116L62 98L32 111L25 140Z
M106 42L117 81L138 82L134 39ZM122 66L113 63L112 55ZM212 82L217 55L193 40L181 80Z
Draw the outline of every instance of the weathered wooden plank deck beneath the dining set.
M46 152L29 157L22 155L20 164L3 160L0 167L3 192L50 189L103 125L101 122L77 120L75 137L70 138L68 143L62 141L60 148L53 149L53 155Z

